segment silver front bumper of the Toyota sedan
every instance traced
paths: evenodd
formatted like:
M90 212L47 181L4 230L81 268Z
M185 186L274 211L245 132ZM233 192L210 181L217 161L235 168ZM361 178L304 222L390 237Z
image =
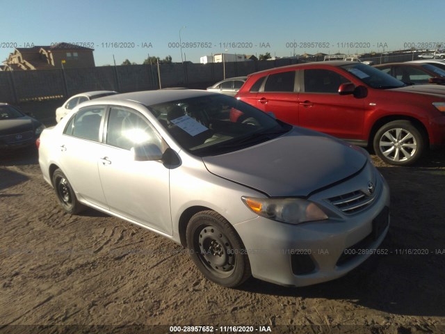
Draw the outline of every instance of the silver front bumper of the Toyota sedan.
M389 187L380 175L378 184L372 205L359 213L298 225L260 216L236 224L252 276L280 285L313 285L339 278L380 253L389 229Z

